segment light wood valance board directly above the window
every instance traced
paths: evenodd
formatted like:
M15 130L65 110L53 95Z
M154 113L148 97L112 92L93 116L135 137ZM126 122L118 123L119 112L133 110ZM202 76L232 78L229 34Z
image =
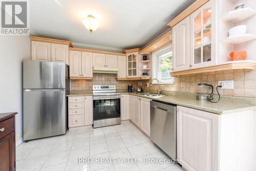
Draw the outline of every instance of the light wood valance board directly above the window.
M159 36L157 39L155 39L153 42L151 42L151 44L149 44L148 46L146 46L145 48L143 48L139 54L148 54L148 53L152 53L160 48L162 48L163 46L169 44L172 42L172 39L170 39L170 35L173 33L172 30L168 30L166 33L162 34L161 36Z

